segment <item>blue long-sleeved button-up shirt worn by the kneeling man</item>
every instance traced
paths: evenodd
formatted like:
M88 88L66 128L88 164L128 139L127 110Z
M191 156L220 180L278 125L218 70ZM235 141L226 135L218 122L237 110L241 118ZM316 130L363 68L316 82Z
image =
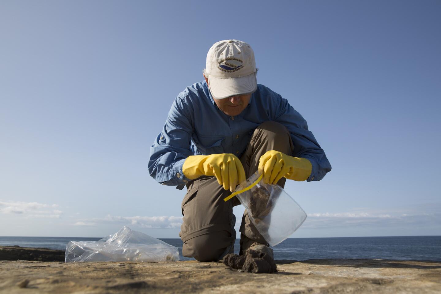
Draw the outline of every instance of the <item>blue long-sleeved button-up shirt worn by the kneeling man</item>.
M202 81L187 87L173 102L164 128L150 148L149 173L157 182L182 189L189 180L182 171L188 156L232 153L240 158L254 130L266 121L281 123L289 130L294 151L288 155L312 164L308 182L323 179L331 170L306 120L288 100L258 85L247 108L229 116L217 107Z

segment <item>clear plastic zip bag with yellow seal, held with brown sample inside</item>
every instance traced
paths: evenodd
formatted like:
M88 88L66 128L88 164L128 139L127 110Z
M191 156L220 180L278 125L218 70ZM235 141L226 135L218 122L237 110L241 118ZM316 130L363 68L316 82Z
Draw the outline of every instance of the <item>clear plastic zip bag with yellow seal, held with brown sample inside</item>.
M282 187L265 184L262 175L262 171L251 175L224 201L234 196L239 198L259 233L269 245L276 246L303 224L306 212Z

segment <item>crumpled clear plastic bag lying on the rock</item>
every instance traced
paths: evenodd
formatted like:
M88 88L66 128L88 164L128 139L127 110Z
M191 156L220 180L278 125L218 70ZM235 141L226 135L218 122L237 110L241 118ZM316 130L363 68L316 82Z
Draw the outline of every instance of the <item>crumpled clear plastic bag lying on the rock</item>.
M83 261L179 261L178 248L129 227L95 242L70 241L66 262Z

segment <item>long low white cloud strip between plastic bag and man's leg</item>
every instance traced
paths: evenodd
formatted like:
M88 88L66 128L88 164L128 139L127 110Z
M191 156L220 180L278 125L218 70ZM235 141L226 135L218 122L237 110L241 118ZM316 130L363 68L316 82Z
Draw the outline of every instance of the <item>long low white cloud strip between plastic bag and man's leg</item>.
M111 216L105 218L93 218L90 220L79 220L74 226L95 226L102 223L119 223L133 227L146 227L158 229L176 229L182 224L182 216Z

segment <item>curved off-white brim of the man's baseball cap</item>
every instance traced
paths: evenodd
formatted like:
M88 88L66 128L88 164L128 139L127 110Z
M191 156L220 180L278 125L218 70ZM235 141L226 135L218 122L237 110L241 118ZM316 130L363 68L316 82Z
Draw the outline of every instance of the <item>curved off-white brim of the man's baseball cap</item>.
M215 78L209 74L208 85L211 95L216 99L253 93L257 89L256 73L241 78Z

